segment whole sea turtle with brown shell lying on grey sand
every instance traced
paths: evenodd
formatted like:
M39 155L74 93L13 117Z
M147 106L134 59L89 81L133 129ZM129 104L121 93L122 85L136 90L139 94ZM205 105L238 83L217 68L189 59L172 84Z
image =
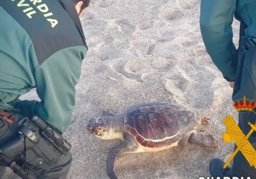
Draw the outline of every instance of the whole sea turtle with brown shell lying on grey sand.
M218 147L218 141L211 135L196 133L195 127L199 124L197 113L177 105L155 102L135 105L120 116L105 112L102 117L89 121L87 131L100 139L123 140L110 150L107 159L107 174L111 179L117 179L114 164L122 153L157 152L187 142Z

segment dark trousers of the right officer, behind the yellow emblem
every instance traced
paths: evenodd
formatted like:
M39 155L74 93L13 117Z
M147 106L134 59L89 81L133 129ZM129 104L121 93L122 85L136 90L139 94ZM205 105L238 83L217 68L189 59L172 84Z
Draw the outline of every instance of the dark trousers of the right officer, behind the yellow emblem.
M247 48L247 51L243 52L242 48L246 46L247 42L248 40L243 38L241 38L239 42L238 70L233 92L233 101L242 99L244 96L246 96L247 99L256 101L256 46ZM248 122L256 124L256 113L239 112L238 125L245 135L251 130ZM252 133L249 141L256 150L256 131ZM233 159L231 175L250 176L251 179L255 179L256 169L249 165L243 154L239 151Z

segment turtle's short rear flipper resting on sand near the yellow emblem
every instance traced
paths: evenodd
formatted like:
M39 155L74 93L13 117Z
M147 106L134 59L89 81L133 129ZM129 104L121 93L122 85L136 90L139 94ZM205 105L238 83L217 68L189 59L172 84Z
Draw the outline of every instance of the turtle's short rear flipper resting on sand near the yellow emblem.
M218 141L210 134L192 133L189 137L190 144L198 144L210 148L218 148Z

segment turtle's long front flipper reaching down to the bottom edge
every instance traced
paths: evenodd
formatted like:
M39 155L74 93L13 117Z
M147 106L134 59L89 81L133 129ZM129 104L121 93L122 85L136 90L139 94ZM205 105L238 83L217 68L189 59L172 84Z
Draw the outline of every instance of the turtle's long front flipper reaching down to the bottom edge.
M113 147L108 153L107 159L107 174L111 179L118 179L114 171L116 159L123 153L133 152L137 150L137 144L134 141L134 138L130 135L124 137L125 141L121 144Z

